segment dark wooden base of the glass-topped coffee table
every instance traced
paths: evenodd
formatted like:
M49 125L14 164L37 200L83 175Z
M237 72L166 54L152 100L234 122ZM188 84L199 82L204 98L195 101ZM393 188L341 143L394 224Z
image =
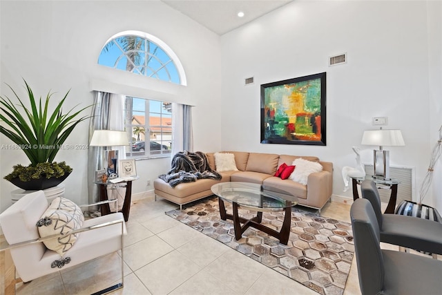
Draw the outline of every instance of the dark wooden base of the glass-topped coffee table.
M277 238L281 244L287 245L289 242L290 236L290 225L291 225L291 207L287 207L283 209L285 211L284 222L282 222L281 231L278 232L274 229L266 227L265 225L261 225L262 221L262 212L258 211L255 217L251 219L242 218L238 214L238 203L232 202L233 204L233 214L228 214L226 212L226 207L224 207L224 201L221 198L218 198L218 202L220 204L220 216L222 220L233 220L233 229L235 230L235 238L239 240L242 238L242 234L249 227L254 227L259 229L260 231L264 231L266 234ZM259 208L253 208L251 210L258 210ZM241 223L243 225L241 226Z

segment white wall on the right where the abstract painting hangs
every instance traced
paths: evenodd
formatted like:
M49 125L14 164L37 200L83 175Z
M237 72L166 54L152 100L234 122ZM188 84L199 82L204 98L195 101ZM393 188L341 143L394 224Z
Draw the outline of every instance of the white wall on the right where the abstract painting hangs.
M434 144L430 131L442 123L441 9L428 5L436 11L425 1L294 1L222 36L224 149L317 155L334 163L333 193L351 198L340 171L356 164L352 146L372 163L373 147L361 146L363 131L376 129L372 117L388 117L384 128L401 129L406 144L388 148L390 164L415 167L419 186ZM438 29L429 30L427 12ZM348 63L329 67L328 57L340 53ZM439 63L432 68L439 94L431 103L430 58ZM260 144L260 84L321 72L327 72L327 146ZM255 84L244 86L246 77Z

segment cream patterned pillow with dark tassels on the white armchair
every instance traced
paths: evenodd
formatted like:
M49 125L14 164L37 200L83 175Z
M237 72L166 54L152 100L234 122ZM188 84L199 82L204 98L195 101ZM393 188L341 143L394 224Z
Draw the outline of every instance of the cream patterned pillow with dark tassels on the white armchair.
M41 238L55 234L69 234L81 228L84 222L83 212L74 202L65 198L55 198L37 222ZM56 251L60 256L77 241L77 234L44 241L46 248Z

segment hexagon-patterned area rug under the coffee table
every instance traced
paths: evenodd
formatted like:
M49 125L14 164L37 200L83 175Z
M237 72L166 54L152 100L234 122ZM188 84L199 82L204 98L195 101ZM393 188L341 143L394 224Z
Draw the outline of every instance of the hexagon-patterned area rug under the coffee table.
M231 212L230 203L225 202ZM239 209L243 218L256 211ZM319 294L343 294L354 254L352 225L323 218L316 213L292 208L291 232L287 245L258 229L249 227L235 239L232 220L221 220L218 198L206 198L185 209L166 212L203 234L271 267ZM264 212L262 224L280 230L284 212Z

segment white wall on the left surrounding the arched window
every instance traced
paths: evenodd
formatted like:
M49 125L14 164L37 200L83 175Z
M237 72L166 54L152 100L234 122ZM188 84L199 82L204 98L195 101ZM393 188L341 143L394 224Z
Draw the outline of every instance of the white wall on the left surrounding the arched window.
M10 95L5 83L23 95L23 77L36 94L58 92L56 101L71 88L66 110L77 104L92 104L93 79L124 81L127 74L97 65L102 46L117 32L140 30L162 39L184 66L188 86L173 93L176 100L182 95L195 104L195 148L220 149L218 137L206 140L213 129L219 131L220 113L213 113L220 104L218 35L160 1L1 1L0 10L1 95ZM140 88L153 90L157 84L147 77L134 77L134 81ZM164 84L158 85L164 88ZM213 127L198 122L212 122ZM0 144L9 143L1 135ZM78 126L66 143L88 144L88 123ZM13 165L29 163L20 151L2 149L0 153L2 178ZM55 160L66 160L73 167L64 181L65 196L79 204L87 202L87 151L60 151ZM140 180L133 182L133 193L153 189L146 187L146 180L169 171L170 160L137 161ZM10 205L10 191L17 187L3 179L0 186L3 211Z

